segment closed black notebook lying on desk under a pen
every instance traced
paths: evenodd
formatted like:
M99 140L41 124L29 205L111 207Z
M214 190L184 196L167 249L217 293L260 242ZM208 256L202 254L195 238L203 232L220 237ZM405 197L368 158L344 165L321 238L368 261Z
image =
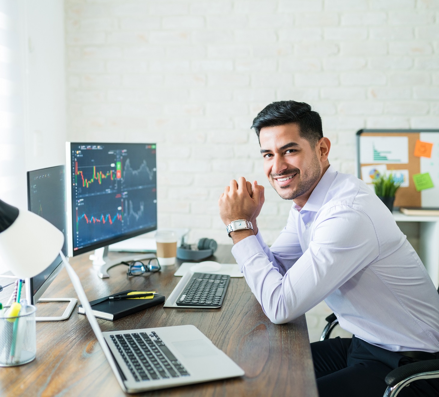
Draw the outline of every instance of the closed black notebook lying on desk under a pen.
M135 290L126 290L122 292L109 295L115 297L116 295L126 295ZM90 302L93 314L95 317L105 318L106 320L117 320L118 318L136 313L137 311L148 309L156 304L164 303L165 297L163 295L154 295L152 299L120 299L108 300L108 297L92 300ZM78 306L78 313L85 314L82 305Z

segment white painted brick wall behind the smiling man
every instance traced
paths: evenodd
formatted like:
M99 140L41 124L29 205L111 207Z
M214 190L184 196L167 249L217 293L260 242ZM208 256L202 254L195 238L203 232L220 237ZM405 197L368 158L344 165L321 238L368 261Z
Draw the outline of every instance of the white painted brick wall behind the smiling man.
M257 112L309 102L350 173L358 129L438 128L438 12L434 0L65 0L68 139L157 142L159 225L192 239L230 243L217 197L258 179L271 243L291 202L263 175Z

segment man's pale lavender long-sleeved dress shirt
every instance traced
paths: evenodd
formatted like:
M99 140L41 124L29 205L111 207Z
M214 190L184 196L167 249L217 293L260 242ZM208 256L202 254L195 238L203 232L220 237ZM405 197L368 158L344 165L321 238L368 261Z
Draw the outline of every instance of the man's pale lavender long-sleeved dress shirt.
M276 324L324 300L368 343L439 351L439 294L390 211L353 175L330 166L271 247L258 232L232 254Z

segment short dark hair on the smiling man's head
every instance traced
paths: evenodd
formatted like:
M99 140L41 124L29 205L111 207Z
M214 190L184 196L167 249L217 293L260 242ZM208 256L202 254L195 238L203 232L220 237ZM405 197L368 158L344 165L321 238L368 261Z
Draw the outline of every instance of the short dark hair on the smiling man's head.
M259 133L262 128L289 123L299 125L300 136L305 138L311 146L315 145L320 138L323 138L320 114L311 110L309 104L296 102L295 100L280 100L267 105L253 119L251 128L255 129L259 140Z

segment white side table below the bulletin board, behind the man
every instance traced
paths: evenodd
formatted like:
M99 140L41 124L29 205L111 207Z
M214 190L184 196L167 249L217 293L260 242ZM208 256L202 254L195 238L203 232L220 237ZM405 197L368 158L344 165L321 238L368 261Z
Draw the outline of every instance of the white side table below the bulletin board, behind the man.
M393 211L396 224L418 222L419 244L416 250L436 288L439 286L439 216L408 216ZM400 226L401 227L401 226Z

